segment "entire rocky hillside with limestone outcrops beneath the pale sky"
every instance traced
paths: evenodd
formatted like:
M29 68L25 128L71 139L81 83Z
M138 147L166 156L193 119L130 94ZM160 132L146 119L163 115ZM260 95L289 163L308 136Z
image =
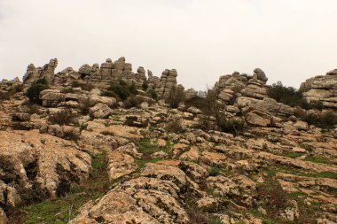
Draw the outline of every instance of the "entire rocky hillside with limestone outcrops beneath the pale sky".
M337 73L197 92L125 58L0 82L0 224L337 222Z

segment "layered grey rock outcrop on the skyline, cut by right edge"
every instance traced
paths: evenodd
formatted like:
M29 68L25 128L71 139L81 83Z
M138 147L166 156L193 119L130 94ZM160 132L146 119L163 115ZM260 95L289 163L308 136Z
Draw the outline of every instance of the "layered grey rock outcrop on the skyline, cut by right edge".
M320 102L337 109L337 69L302 82L300 91L308 103Z

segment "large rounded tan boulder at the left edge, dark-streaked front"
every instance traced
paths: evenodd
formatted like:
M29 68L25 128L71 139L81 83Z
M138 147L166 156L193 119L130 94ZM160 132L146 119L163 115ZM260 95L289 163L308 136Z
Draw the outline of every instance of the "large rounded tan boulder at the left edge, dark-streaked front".
M14 182L13 188L27 192L20 195L23 200L56 197L64 194L61 190L67 184L89 176L90 156L79 151L74 143L39 134L37 130L0 131L0 138L0 180ZM16 197L15 189L7 200ZM14 206L17 201L12 199L10 204Z

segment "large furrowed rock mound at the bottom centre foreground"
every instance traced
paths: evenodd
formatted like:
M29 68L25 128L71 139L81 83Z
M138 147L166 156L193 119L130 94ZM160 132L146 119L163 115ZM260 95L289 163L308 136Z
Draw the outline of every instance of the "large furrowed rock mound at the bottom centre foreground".
M140 177L124 182L82 207L76 223L190 223L179 194L186 175L174 166L147 164Z

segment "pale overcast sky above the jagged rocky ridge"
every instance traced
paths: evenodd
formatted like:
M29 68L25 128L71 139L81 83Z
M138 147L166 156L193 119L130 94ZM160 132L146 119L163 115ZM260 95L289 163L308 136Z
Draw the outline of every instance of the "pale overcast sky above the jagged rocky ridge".
M0 80L125 57L186 89L253 73L298 88L337 68L336 0L0 0Z

